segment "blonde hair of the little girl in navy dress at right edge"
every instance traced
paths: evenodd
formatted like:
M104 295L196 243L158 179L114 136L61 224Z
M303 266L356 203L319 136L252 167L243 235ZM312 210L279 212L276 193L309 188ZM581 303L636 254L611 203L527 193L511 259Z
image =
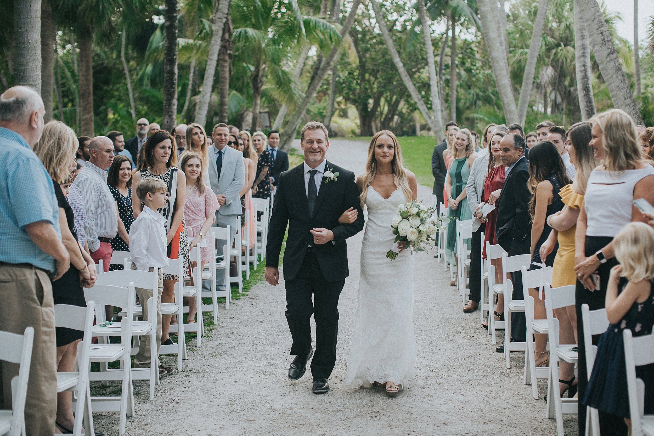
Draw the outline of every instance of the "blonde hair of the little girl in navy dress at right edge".
M622 277L633 282L654 278L654 229L647 224L627 224L615 235L613 249L622 265Z

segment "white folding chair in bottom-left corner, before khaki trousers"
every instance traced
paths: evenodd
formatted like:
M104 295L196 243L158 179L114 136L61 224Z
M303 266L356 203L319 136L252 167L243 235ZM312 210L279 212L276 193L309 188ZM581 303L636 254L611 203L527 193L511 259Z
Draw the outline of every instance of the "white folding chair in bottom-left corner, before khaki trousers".
M12 409L0 410L0 435L20 436L25 434L25 401L27 381L32 361L34 327L26 327L22 335L0 331L0 360L18 363L18 375L11 380Z

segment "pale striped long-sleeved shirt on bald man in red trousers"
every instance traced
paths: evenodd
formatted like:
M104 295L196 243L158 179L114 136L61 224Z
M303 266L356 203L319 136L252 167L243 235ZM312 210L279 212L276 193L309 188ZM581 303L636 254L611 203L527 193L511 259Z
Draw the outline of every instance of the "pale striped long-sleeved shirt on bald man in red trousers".
M107 171L86 162L74 182L84 200L84 212L88 224L84 226L86 242L92 252L100 248L98 238L113 239L118 233L118 213L114 197L107 185Z

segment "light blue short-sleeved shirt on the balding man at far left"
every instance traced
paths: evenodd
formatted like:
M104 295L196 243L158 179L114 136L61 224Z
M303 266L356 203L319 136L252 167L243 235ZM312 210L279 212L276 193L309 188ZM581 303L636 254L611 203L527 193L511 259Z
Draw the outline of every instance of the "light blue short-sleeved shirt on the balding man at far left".
M0 174L0 261L31 263L54 273L54 259L25 231L27 224L46 221L61 237L52 178L25 139L4 127L0 127Z

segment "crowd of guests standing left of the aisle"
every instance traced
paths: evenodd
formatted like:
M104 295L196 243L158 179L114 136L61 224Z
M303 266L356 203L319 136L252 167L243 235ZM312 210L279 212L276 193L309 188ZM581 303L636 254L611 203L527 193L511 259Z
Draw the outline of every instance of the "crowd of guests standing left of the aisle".
M191 248L202 246L200 268L214 255L201 244L211 226L230 226L230 241L218 244L231 246L249 216L254 244L252 197L271 201L288 169L275 130L250 134L218 123L207 135L191 123L173 135L140 118L130 139L121 131L90 138L62 122L44 124L43 117L43 101L31 88L0 95L0 171L7 180L0 190L0 330L35 329L25 408L26 432L34 435L73 427L71 394L57 394L56 373L75 371L82 333L55 328L54 305L85 307L83 288L94 286L97 263L105 272L122 269L111 263L114 251L129 251L131 267L146 271L183 259L187 277ZM179 280L160 277L160 303L174 301ZM216 282L222 290L224 276ZM137 295L145 302L152 290L137 288ZM188 301L190 323L198 315L195 303ZM113 313L107 307L108 320ZM170 325L182 320L162 316L160 308L157 318L158 345L173 344ZM148 340L141 341L135 367L150 366ZM158 364L161 376L173 373ZM11 409L9 381L17 373L17 365L2 367L0 409Z

